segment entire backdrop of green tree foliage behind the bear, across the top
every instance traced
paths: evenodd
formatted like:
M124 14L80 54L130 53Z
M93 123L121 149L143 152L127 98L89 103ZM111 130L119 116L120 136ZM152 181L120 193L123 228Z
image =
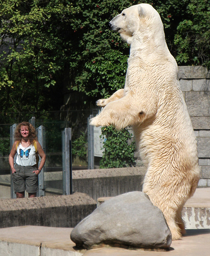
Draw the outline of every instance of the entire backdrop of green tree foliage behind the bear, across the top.
M58 110L62 89L108 97L124 86L129 45L108 22L149 3L181 65L210 67L208 0L4 0L0 3L0 121L9 111ZM20 119L20 117L18 117ZM18 121L19 121L18 119Z

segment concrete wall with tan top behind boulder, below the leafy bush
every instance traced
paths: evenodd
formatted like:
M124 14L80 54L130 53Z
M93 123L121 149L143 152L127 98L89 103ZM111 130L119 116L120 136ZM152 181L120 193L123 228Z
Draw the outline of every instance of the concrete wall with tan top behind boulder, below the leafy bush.
M77 170L72 172L73 191L86 193L94 200L141 191L145 173L145 167Z

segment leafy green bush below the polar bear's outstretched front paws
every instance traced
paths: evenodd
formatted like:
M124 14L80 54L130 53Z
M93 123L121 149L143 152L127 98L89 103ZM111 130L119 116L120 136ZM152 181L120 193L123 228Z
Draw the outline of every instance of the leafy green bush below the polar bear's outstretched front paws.
M131 167L135 165L135 142L127 129L117 131L113 126L102 127L105 136L104 154L100 161L100 168Z

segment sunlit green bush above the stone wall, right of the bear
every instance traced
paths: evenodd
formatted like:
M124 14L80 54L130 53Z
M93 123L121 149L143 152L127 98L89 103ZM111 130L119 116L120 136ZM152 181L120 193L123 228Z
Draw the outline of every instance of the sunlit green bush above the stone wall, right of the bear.
M210 3L191 0L174 38L176 60L210 68Z

